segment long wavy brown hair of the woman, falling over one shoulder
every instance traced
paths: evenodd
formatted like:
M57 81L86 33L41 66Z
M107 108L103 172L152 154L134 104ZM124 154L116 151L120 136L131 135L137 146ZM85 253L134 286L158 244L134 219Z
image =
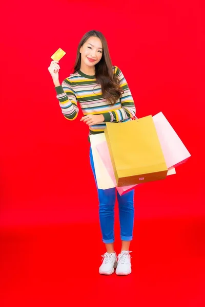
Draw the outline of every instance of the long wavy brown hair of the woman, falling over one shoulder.
M103 55L100 61L95 65L95 78L97 82L101 85L103 97L106 98L111 105L113 105L119 99L120 95L124 93L124 91L119 85L119 79L113 73L113 66L108 50L107 40L101 32L92 30L85 33L84 36L81 38L77 48L77 57L74 65L74 73L80 70L80 48L91 36L98 37L103 45Z

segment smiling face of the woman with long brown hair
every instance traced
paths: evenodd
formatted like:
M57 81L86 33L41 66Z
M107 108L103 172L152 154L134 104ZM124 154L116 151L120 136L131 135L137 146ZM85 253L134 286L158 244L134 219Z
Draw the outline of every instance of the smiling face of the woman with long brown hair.
M98 37L89 37L83 46L80 48L81 61L87 66L96 65L103 55L103 45Z

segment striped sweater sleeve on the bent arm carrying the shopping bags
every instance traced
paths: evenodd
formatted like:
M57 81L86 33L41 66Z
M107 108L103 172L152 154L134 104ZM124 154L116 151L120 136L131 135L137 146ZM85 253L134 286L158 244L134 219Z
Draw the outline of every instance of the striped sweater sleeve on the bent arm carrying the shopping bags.
M131 117L134 117L136 113L134 100L132 98L128 83L118 67L115 67L115 74L120 80L120 86L122 90L124 90L124 93L121 94L119 97L121 108L103 113L105 122L119 122L122 120L126 120Z

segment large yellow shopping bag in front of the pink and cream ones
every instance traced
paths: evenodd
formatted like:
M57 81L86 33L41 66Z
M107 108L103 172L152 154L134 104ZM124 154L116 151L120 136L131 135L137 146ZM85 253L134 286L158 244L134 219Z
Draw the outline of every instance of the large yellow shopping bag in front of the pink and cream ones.
M105 135L118 187L167 177L151 115L124 123L106 122Z

